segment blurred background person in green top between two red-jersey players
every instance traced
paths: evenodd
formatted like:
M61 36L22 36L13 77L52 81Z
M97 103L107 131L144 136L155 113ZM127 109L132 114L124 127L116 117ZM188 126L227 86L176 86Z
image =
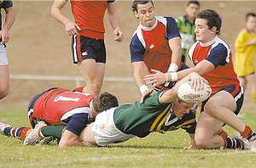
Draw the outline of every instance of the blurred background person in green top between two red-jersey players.
M198 1L189 1L186 7L186 14L177 18L177 27L182 37L183 56L182 62L188 62L189 48L195 43L195 16L200 11Z

